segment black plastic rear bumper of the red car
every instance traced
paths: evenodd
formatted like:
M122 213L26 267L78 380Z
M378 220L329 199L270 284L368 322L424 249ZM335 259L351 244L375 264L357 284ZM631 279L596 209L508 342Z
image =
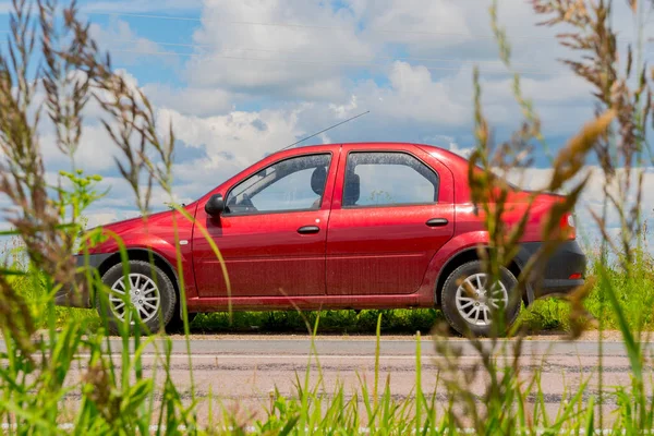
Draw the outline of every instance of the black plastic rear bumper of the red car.
M519 266L524 267L541 246L541 242L522 244L517 258ZM528 302L532 303L547 295L566 295L582 286L586 262L586 256L577 241L564 242L544 266L535 268L536 274L530 280L526 290Z

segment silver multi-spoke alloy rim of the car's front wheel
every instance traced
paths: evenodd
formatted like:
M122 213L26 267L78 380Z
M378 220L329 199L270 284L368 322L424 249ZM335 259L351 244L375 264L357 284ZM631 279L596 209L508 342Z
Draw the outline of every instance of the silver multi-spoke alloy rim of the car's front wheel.
M133 272L128 276L126 286L128 289L125 289L125 277L123 276L116 280L111 287L111 293L109 294L111 312L118 318L124 320L128 304L132 304L144 323L157 316L161 298L153 279L143 274Z

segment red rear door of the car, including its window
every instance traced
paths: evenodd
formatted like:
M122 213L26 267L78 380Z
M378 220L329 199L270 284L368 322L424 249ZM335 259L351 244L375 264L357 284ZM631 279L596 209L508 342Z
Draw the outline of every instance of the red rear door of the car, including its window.
M453 178L411 145L343 146L327 235L327 294L408 294L453 234Z

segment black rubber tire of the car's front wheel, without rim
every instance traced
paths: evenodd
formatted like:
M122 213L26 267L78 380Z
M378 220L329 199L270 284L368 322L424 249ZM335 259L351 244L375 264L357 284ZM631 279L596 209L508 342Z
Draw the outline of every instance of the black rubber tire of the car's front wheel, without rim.
M136 274L149 278L155 287L155 292L158 291L159 307L154 312L152 318L141 323L140 331L143 335L159 331L161 326L166 327L174 316L174 308L177 306L177 292L170 277L156 265L150 265L143 261L130 261L130 274ZM109 268L102 276L102 282L111 288L118 280L123 279L123 265L118 264ZM109 325L109 331L111 334L119 334L119 325L122 319L114 313L109 306L110 302L107 295L101 298L100 292L96 292L95 305L101 317L105 317ZM104 301L102 301L104 300ZM104 304L102 304L104 303ZM134 334L134 325L132 325L131 332Z

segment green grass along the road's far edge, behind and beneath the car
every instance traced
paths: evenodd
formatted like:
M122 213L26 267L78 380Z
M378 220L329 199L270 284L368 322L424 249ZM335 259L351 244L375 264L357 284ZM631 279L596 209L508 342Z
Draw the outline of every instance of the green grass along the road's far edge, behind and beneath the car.
M592 263L592 270L598 265ZM643 256L634 263L633 281L626 281L626 275L616 265L604 268L616 296L623 310L625 317L633 329L654 330L654 262L651 256ZM41 278L43 280L43 278ZM44 291L43 281L35 281L29 277L13 277L12 283L26 300L39 304ZM617 329L618 318L614 311L606 310L606 301L602 303L600 286L591 291L584 301L584 306L596 320L602 318L604 328ZM604 307L604 308L603 308ZM94 310L55 307L57 325L62 326L69 320L80 322L87 319L90 328L99 328L100 319ZM33 311L34 313L34 311ZM421 331L428 334L433 326L445 318L439 310L387 310L387 311L325 311L320 313L319 334L339 335L372 335L375 332L378 315L384 316L383 335L413 335ZM227 313L199 314L192 323L194 332L306 332L307 323L313 325L318 316L317 312L275 311L275 312L235 312L230 317ZM46 326L45 320L37 320L40 327ZM532 306L522 311L520 323L532 334L546 330L567 331L570 329L570 305L567 301L549 298L537 300ZM591 328L596 327L591 325Z

